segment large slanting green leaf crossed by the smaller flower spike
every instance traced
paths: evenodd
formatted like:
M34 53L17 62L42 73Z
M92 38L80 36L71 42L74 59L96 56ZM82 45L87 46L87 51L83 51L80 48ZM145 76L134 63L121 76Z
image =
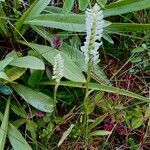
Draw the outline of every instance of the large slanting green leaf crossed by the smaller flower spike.
M54 65L54 57L59 53L58 50L44 45L38 45L33 43L24 43L32 49L35 49L40 53L48 62ZM64 59L64 77L71 81L85 82L85 78L82 74L81 69L69 58L65 53L60 52Z

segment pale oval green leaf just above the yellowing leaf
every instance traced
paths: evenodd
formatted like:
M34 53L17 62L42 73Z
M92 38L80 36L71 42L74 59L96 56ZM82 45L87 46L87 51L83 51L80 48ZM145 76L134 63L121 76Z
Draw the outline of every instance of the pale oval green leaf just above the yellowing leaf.
M10 65L20 68L30 68L35 70L44 70L44 63L37 57L25 56L19 57L11 61Z

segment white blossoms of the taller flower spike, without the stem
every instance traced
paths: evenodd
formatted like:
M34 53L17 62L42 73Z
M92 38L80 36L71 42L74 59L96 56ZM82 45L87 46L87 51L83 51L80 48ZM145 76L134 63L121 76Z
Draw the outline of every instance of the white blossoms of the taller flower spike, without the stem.
M81 51L84 53L86 64L90 61L93 65L96 65L100 61L98 49L102 45L101 38L105 27L103 11L96 3L92 9L87 9L85 14L87 36Z

